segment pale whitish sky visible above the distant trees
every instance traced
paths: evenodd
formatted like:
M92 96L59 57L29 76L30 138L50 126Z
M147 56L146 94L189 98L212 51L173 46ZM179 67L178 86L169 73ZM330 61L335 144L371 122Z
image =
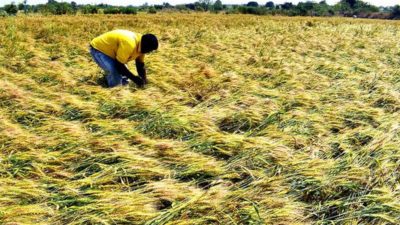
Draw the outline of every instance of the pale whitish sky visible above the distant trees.
M9 4L11 2L15 3L20 3L23 0L0 0L0 6L4 4ZM70 0L58 0L59 2L71 2ZM143 5L144 3L148 3L150 5L153 4L162 4L163 2L168 2L171 5L176 5L176 4L183 4L183 3L193 3L197 0L75 0L76 3L78 4L98 4L98 3L107 3L110 5L134 5L134 6L139 6ZM221 0L223 4L245 4L249 1L254 1L254 0ZM293 3L298 3L298 2L306 2L307 0L255 0L259 4L264 5L267 1L273 1L275 4L281 4L284 2L293 2ZM327 0L328 4L335 4L339 0ZM364 2L369 2L373 5L376 6L393 6L393 5L400 5L400 0L363 0ZM28 0L28 4L34 5L34 4L40 4L40 3L46 3L47 0ZM314 2L319 2L319 1L314 1Z

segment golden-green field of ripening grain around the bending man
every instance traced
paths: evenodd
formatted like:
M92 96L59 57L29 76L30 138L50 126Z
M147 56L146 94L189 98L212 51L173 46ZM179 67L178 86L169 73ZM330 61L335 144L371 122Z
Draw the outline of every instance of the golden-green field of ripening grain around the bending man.
M89 41L113 29L159 37L144 88L103 87ZM0 18L0 224L400 224L399 40L383 20Z

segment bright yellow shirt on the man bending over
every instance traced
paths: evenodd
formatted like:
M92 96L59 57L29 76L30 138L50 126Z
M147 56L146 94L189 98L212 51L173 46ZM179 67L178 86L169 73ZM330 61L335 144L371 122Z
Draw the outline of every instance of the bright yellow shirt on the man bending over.
M136 59L144 62L144 54L140 53L141 39L141 34L132 31L113 30L94 38L90 45L123 64Z

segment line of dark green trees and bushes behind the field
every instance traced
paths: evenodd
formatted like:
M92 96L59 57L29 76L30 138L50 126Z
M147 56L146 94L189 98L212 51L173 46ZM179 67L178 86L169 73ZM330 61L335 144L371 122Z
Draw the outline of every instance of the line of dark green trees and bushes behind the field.
M16 15L18 12L41 13L45 15L63 14L137 14L138 12L157 13L159 11L209 11L213 13L243 13L256 15L286 15L286 16L351 16L362 18L400 19L400 6L377 7L362 0L341 0L335 5L329 5L326 1L300 2L293 4L286 2L275 4L268 1L264 5L256 1L250 1L244 5L222 4L221 0L199 0L190 4L142 6L112 6L108 4L80 5L76 2L57 2L48 0L46 4L28 5L26 0L19 4L11 3L0 8L0 15Z

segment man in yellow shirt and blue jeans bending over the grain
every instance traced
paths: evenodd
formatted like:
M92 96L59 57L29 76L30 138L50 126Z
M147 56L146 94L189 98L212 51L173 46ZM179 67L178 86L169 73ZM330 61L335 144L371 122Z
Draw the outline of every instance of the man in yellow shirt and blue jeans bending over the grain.
M157 50L158 40L153 34L114 30L94 38L90 46L94 61L106 72L108 87L127 85L127 78L142 87L147 83L144 55ZM126 66L132 60L135 60L139 77Z

